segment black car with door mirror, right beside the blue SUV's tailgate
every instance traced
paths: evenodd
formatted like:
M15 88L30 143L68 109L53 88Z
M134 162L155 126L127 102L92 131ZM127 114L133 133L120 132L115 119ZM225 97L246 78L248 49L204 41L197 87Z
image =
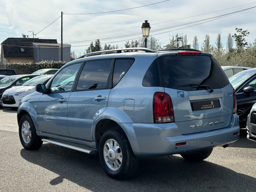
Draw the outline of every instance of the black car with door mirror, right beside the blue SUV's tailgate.
M246 127L247 116L256 103L256 68L241 71L229 78L236 92L236 113L239 125Z

